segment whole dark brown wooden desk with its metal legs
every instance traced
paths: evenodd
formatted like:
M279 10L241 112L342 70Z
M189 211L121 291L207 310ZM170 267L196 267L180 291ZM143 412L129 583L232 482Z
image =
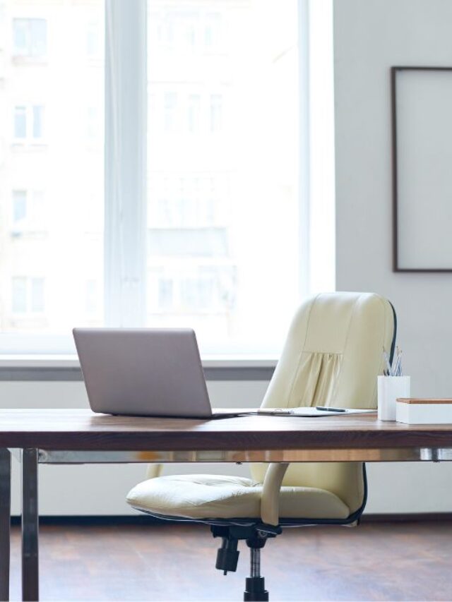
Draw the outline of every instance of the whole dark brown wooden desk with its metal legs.
M120 462L439 462L452 425L379 422L376 414L211 421L0 410L0 598L8 599L11 456L22 467L22 588L37 600L38 464ZM124 492L124 495L126 492Z

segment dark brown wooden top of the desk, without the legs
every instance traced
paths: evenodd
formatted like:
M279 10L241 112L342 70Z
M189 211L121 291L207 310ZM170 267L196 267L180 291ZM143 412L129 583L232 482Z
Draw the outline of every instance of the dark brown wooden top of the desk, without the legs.
M452 424L406 425L376 414L172 419L88 409L0 409L0 447L54 450L302 450L452 447Z

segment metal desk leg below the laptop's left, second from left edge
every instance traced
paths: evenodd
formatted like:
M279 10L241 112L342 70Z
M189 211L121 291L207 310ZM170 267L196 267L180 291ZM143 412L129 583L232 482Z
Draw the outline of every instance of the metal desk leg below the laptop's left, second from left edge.
M39 599L37 450L22 450L22 599Z

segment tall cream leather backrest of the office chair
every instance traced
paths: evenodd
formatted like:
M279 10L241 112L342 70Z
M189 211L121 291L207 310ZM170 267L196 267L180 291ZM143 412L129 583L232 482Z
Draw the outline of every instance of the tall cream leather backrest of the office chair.
M340 292L307 300L292 320L261 406L376 408L376 377L394 332L391 303L379 295ZM266 464L251 464L256 481L265 472ZM291 464L283 485L329 490L351 513L364 499L361 462Z

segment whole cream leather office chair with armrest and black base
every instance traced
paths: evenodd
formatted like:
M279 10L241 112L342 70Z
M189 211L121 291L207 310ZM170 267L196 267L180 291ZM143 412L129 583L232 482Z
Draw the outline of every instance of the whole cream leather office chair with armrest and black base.
M371 293L320 294L299 308L261 407L376 407L383 349L393 356L396 313ZM302 420L302 419L299 419ZM321 419L319 419L321 420ZM328 420L325 418L324 420ZM260 551L285 526L355 526L367 499L362 462L250 464L251 477L158 476L127 495L137 510L160 519L202 522L222 538L216 568L237 569L237 543L251 550L244 600L266 601Z

